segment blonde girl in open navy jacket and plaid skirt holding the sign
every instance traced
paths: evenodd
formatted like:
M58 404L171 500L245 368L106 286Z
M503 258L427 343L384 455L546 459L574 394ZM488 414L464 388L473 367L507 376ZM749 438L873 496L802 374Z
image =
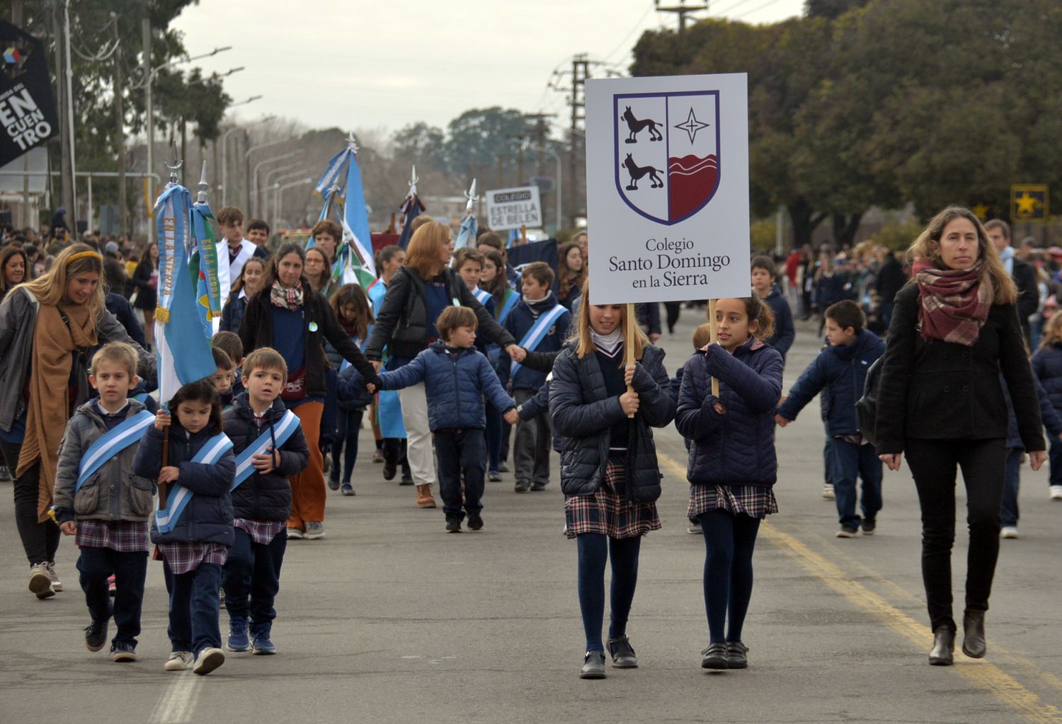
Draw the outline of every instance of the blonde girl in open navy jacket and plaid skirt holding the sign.
M561 436L565 533L578 546L579 607L586 649L580 678L604 678L604 567L612 559L607 651L613 667L638 659L627 619L641 536L658 530L660 464L651 428L674 418L664 350L639 325L627 335L626 305L595 305L583 285L576 331L553 363L549 414ZM624 366L631 348L633 364ZM630 385L630 389L629 386Z

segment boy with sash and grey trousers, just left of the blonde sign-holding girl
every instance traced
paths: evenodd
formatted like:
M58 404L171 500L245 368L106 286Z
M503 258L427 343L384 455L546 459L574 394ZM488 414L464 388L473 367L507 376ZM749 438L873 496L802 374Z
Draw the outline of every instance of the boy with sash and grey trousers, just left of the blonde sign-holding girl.
M571 315L551 290L553 270L543 261L532 262L524 268L520 281L521 297L506 317L506 329L528 351L560 350L568 337ZM546 373L514 364L507 355L501 355L498 360L498 377L502 384L509 383L517 404L534 397L546 381ZM513 443L516 493L546 489L549 484L551 435L549 415L517 424Z

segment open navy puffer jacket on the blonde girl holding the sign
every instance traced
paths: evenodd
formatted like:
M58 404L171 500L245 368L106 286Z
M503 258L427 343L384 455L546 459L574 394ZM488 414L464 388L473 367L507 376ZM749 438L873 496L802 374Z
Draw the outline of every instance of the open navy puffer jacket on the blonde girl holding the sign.
M661 496L661 471L650 428L674 419L674 397L664 369L664 350L649 345L631 381L638 393L634 458L627 470L627 495L649 503ZM553 363L549 415L561 435L561 490L568 496L593 495L604 479L612 426L627 419L619 396L609 396L597 355L579 359L572 343Z

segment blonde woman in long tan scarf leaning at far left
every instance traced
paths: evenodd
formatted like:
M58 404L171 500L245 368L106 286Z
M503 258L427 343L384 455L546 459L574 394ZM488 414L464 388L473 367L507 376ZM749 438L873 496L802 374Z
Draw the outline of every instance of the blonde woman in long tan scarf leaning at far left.
M63 589L55 574L59 529L49 520L59 442L71 411L89 398L89 351L107 342L133 345L139 373L155 360L104 307L103 257L71 244L52 268L15 287L0 305L0 449L17 462L15 522L30 562L30 590L47 599Z

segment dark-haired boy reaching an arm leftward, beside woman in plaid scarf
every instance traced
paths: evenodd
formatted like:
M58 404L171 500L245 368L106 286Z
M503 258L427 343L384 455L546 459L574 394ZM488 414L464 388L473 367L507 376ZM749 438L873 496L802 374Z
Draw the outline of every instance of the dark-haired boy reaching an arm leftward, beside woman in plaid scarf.
M859 430L856 401L862 396L867 370L885 352L885 343L863 328L867 318L855 301L838 301L826 309L824 316L829 347L808 365L788 398L783 398L775 421L787 426L812 397L828 390L826 434L832 437L830 478L841 522L837 537L851 538L860 525L863 535L873 535L881 510L881 461ZM862 519L856 515L857 477L862 480Z

